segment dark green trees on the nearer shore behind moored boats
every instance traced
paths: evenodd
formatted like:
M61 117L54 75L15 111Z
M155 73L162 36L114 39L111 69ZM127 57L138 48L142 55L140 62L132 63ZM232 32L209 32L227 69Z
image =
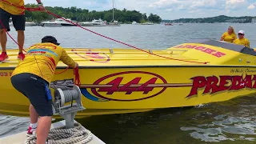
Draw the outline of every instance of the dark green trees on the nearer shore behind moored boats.
M26 4L26 7L37 7L35 4ZM64 18L70 18L71 20L77 22L85 22L92 21L94 19L101 18L102 20L106 20L107 22L111 22L113 20L113 10L104 10L104 11L96 11L96 10L86 10L77 8L75 6L71 6L68 8L63 8L59 6L46 6L46 10L54 14L58 14ZM25 12L27 21L34 22L42 22L48 21L54 18L54 16L47 14L45 12L39 11L27 11ZM157 14L150 14L149 16L146 13L142 14L137 10L117 10L114 9L114 20L118 22L131 23L131 22L154 22L159 23L162 21Z

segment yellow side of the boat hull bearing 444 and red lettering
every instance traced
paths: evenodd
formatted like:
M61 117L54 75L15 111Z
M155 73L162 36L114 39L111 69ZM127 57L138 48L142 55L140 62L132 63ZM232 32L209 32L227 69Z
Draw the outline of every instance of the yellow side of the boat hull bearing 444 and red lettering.
M12 71L0 71L0 114L28 116L30 102L11 85ZM78 118L197 106L253 94L255 72L251 66L81 67L80 89L86 110L79 112ZM55 74L54 81L72 78L73 70L68 70Z

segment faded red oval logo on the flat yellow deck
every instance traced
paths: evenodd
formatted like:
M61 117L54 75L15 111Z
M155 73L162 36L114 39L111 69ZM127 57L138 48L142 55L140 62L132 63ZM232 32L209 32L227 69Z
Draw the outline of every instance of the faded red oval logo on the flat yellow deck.
M110 62L110 57L105 53L92 52L91 50L71 50L81 58L89 59L91 62ZM81 54L84 53L84 54Z

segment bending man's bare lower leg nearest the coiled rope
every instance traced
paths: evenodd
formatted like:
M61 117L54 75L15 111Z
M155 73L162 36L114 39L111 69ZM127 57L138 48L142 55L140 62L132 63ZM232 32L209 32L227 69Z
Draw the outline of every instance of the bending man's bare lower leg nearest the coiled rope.
M37 144L45 144L50 131L51 117L40 117L37 128Z

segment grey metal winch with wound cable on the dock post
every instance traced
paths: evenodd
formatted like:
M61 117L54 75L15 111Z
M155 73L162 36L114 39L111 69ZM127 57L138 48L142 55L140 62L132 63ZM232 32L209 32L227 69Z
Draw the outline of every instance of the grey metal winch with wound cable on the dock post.
M50 87L54 89L53 111L61 115L66 121L66 129L74 127L74 117L82 106L82 94L73 79L51 82Z

